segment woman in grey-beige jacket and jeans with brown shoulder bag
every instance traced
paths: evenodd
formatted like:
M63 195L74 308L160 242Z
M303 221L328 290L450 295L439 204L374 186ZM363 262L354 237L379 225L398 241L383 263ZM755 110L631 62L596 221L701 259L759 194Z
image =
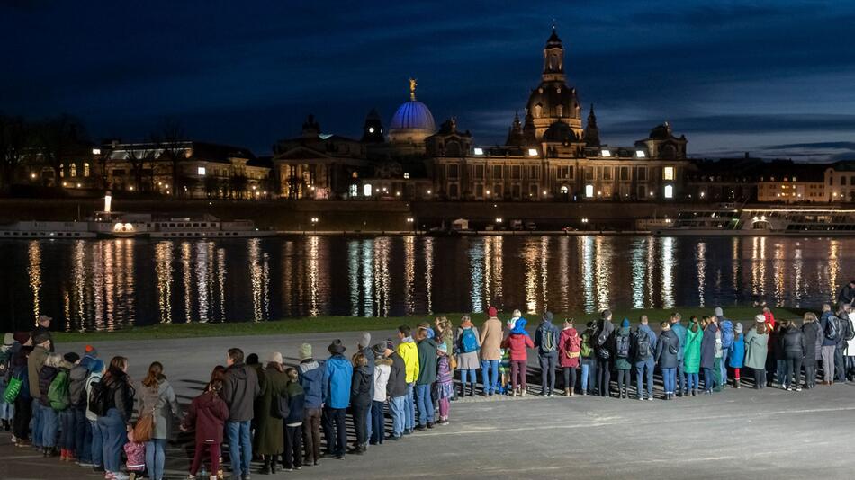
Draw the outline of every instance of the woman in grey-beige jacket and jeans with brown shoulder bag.
M178 411L178 399L175 390L163 374L163 365L159 361L148 366L148 375L142 380L142 392L139 396L139 416L152 415L151 440L146 442L146 469L151 480L163 479L163 467L166 463L166 439L169 438L169 424L173 418L181 418Z

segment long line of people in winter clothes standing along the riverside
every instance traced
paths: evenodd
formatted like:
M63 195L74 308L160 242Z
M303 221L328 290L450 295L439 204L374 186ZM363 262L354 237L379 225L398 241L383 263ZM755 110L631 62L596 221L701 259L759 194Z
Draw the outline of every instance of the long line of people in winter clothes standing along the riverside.
M852 287L855 295L855 283ZM372 343L371 334L362 333L349 357L340 340L329 344L325 359L303 343L297 351L300 362L293 366L284 364L280 352L270 353L262 364L257 354L245 357L244 351L229 349L226 364L212 369L186 412L159 362L152 362L137 384L124 357L105 362L92 346L60 355L54 351L50 318L41 316L32 332L4 335L0 426L13 431L16 446L91 467L106 479L144 473L160 480L175 421L181 431L193 431L189 478L222 478L225 442L232 478L247 480L254 458L262 464L255 473L262 475L313 467L321 458L363 455L369 445L446 425L452 401L460 397L526 396L532 350L540 366L536 393L541 396L629 398L632 391L638 400L652 401L655 369L666 401L712 395L728 386L798 392L814 388L817 378L820 385L852 380L850 311L851 302L825 305L820 316L808 312L799 324L776 321L763 308L743 325L716 307L713 315L692 316L685 324L674 313L659 324L658 333L646 316L633 328L626 318L616 325L605 310L577 330L571 318L558 326L545 312L532 335L518 310L503 325L498 310L489 307L480 330L470 316L457 327L441 316L434 324L401 325L397 339ZM751 371L751 380L743 380L744 369ZM559 374L561 390L555 388ZM356 433L349 448L348 411Z

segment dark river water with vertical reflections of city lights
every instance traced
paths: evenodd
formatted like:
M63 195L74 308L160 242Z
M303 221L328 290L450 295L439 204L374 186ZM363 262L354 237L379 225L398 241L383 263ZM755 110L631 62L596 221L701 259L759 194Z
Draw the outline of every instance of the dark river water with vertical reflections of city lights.
M855 271L855 239L652 236L2 241L5 330L556 312L765 301L815 306Z

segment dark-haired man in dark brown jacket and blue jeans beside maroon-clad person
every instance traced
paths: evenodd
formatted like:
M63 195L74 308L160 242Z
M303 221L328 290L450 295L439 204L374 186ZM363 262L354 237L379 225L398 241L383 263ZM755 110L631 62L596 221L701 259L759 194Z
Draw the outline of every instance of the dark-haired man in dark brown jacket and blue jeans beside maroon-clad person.
M229 349L221 396L229 407L226 433L229 438L229 457L232 476L249 476L252 460L252 438L249 424L255 416L253 406L261 394L256 370L244 363L243 351Z

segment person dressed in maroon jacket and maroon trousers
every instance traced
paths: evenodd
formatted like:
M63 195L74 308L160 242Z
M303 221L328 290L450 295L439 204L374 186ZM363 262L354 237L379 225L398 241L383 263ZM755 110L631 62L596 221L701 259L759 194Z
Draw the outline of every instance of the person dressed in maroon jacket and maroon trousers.
M181 423L181 431L191 428L196 430L196 452L193 455L193 465L190 467L189 478L196 478L199 467L202 466L202 456L205 449L211 456L211 479L217 480L216 472L220 471L220 444L226 419L229 418L229 407L220 398L222 380L212 379L205 392L193 398L190 410Z

